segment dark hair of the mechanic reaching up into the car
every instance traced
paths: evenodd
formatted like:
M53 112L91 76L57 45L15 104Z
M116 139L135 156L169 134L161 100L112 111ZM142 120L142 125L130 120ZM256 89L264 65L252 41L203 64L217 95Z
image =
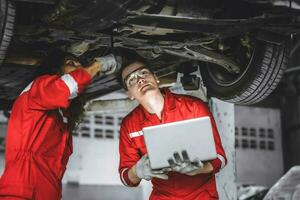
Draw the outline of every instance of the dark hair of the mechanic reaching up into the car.
M45 74L62 75L61 67L68 59L79 61L75 55L69 52L56 48L50 50L49 53L42 59L40 66L34 72L34 78Z

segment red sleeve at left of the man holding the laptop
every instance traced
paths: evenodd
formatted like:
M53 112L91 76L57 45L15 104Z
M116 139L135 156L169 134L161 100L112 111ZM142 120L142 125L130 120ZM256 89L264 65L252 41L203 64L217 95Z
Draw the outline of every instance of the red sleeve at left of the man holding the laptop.
M124 121L122 122L120 129L119 153L119 174L122 183L128 187L138 186L139 183L133 184L130 181L128 177L128 171L133 165L136 164L140 157L138 154L138 150L134 147L134 144L129 137L129 132Z

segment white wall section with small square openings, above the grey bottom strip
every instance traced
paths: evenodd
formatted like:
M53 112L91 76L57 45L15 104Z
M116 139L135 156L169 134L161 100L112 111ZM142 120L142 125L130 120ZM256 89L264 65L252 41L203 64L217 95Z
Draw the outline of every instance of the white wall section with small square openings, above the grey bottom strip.
M63 183L122 185L119 125L127 112L88 112L73 137L73 155Z

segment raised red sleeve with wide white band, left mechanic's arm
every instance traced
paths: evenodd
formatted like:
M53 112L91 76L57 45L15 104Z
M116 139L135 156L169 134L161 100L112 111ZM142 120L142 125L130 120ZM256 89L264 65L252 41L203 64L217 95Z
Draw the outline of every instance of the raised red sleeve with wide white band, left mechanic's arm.
M29 107L37 110L67 108L70 100L80 94L91 79L89 73L81 68L62 76L41 76L28 91Z

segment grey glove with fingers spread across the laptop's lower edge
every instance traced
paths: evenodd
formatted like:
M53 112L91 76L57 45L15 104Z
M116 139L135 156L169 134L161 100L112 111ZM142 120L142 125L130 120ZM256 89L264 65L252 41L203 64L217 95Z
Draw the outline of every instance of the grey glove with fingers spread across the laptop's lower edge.
M191 161L185 150L181 152L181 156L178 152L175 152L173 157L174 159L168 159L168 163L172 171L194 176L197 174L199 169L203 168L203 163L198 158Z

